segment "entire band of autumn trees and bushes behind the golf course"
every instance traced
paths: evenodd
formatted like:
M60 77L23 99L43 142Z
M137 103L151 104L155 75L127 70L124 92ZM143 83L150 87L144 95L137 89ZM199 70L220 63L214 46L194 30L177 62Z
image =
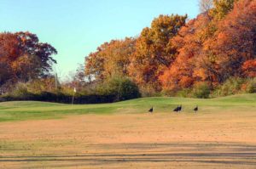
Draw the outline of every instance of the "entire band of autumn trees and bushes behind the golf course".
M200 8L193 20L160 15L138 37L103 43L65 82L53 73L57 51L49 43L30 32L0 33L0 93L63 97L77 87L110 102L141 93L255 93L256 0L201 0Z

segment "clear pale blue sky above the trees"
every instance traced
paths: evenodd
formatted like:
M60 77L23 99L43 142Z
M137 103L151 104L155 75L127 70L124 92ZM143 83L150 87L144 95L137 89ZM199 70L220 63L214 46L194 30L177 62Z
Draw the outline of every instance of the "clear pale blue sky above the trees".
M31 31L67 76L102 42L135 37L160 14L199 13L198 0L0 0L0 31Z

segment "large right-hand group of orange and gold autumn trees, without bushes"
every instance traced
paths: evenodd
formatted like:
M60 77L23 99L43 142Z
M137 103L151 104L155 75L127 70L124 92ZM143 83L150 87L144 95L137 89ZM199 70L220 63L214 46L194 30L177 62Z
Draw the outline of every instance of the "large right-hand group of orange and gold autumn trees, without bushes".
M85 58L95 81L128 76L143 91L175 92L256 76L256 1L201 0L195 19L160 15L137 38L102 44Z

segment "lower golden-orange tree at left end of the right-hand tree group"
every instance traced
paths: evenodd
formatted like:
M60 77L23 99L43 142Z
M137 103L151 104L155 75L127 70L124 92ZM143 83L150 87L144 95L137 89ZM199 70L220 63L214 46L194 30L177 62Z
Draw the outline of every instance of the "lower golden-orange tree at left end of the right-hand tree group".
M135 42L134 38L105 42L85 58L85 75L96 81L111 76L127 76Z

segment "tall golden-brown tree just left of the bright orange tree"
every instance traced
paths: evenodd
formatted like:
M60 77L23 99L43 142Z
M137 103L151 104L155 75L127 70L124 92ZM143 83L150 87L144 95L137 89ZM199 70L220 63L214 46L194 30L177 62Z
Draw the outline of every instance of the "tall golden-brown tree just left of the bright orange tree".
M170 40L185 25L187 15L160 15L150 28L144 28L131 55L129 74L140 87L160 91L158 76L172 63L177 53Z

